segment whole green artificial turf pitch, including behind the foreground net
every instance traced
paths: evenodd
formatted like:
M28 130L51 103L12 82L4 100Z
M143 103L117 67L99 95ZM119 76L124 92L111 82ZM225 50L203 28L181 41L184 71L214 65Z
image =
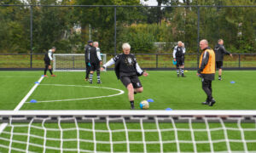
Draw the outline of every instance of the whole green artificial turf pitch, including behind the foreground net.
M148 77L140 77L143 83L143 94L136 94L136 109L139 109L139 102L143 99L154 99L153 103L150 103L150 110L166 110L166 108L172 108L172 110L255 110L255 82L254 77L256 71L224 71L224 80L215 80L212 82L213 97L216 99L216 105L212 107L207 105L201 105L201 102L206 99L206 95L201 89L201 79L196 77L195 71L189 71L185 73L186 77L178 77L175 71L148 71ZM34 86L35 82L41 77L41 71L1 71L0 72L0 97L1 97L1 110L14 110L15 106L20 103L20 100L29 92ZM38 88L32 93L27 99L20 110L129 110L130 104L127 98L127 91L122 83L116 79L113 71L102 72L102 84L96 84L96 75L94 76L94 83L84 82L84 72L56 72L57 77L44 78L39 84ZM235 82L235 83L230 83ZM66 86L73 85L73 86ZM100 88L91 88L100 87ZM103 87L103 88L101 88ZM103 97L94 99L92 97L108 96L118 94L119 91L106 89L115 88L125 91L125 94L119 94L113 97ZM92 99L85 99L92 98ZM31 99L37 101L49 101L49 100L60 100L53 102L38 102L30 103ZM67 101L67 99L73 99ZM79 100L80 99L80 100ZM66 101L65 101L66 100ZM244 144L241 141L241 131L239 130L238 124L235 123L224 123L225 127L233 127L233 129L224 130L223 125L218 123L209 123L211 130L212 140L216 140L213 143L214 151L227 151L227 140L225 138L225 132L227 133L228 139L235 140L229 142L230 150L243 152ZM42 124L33 123L34 127L31 127L30 134L35 135L31 137L29 142L31 144L38 144L40 147L35 145L29 145L28 150L42 152L44 139L44 129ZM59 129L57 123L45 123L45 127ZM93 124L90 123L79 123L80 128L91 129ZM139 129L142 127L140 123L127 123L128 129ZM162 140L166 143L163 144L164 152L177 152L177 143L174 138L174 128L171 122L160 123L160 129L169 128L171 130L163 130L161 132ZM244 129L254 129L253 131L244 132L244 139L253 140L256 139L254 123L242 123L241 127ZM76 127L71 123L61 123L63 129ZM112 122L109 124L111 130L124 129L123 123ZM191 132L189 131L189 123L176 123L177 128L187 129L187 131L177 131L177 137L179 140L189 141L190 143L179 143L181 152L194 152L192 143ZM195 141L207 141L208 133L206 131L205 123L193 123L193 129L205 129L201 132L194 132ZM94 143L79 142L81 150L90 150L94 152L95 146L97 151L111 151L111 145L109 144L109 131L106 123L96 123L95 129L104 130L105 132L97 132L95 134L96 141L100 141L96 145ZM143 123L143 129L157 129L154 123ZM6 127L4 133L0 135L0 152L7 152L8 149L1 147L2 145L9 146L9 139L11 134L11 127ZM20 150L26 150L27 133L28 127L15 127L13 129L15 134L13 139L25 142L25 144L19 144L13 142L11 145L13 148ZM94 133L92 131L79 131L79 139L90 140L93 142ZM67 130L62 133L62 139L77 139L76 130ZM64 148L78 147L77 141L64 141L61 143L61 132L50 131L46 134L46 146L59 148L61 145ZM112 133L112 140L114 142L126 141L125 132L114 132ZM131 152L143 152L143 130L137 132L128 132L128 138L131 142ZM148 152L160 152L160 143L150 143L150 141L160 141L159 133L157 132L145 132L144 138L146 148ZM55 140L51 140L55 139ZM56 140L57 139L57 140ZM218 142L219 140L219 142ZM169 141L169 143L168 143ZM101 143L103 142L103 143ZM141 143L140 143L141 142ZM210 152L209 143L196 143L196 151L198 152ZM256 143L247 143L247 150L255 151ZM60 150L46 149L46 152L59 152ZM113 144L114 152L127 152L126 143ZM15 152L14 150L12 152ZM19 152L19 151L18 151ZM73 151L64 151L73 152ZM74 151L76 152L76 151Z

